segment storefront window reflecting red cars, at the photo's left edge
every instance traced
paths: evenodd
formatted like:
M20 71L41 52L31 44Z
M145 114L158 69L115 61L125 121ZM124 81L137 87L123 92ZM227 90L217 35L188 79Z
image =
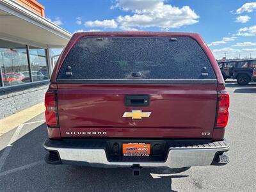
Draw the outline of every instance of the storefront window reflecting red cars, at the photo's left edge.
M0 39L0 67L4 86L30 82L26 45Z

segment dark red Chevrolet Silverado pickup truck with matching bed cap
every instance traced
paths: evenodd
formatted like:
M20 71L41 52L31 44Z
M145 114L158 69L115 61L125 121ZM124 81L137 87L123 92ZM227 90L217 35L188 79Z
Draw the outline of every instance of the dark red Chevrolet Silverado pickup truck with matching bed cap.
M76 33L45 94L50 164L228 163L229 96L196 33Z

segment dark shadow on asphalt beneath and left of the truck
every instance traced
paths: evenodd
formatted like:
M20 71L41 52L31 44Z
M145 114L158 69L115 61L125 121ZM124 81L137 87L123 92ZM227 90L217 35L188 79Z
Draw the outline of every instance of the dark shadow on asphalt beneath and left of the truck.
M23 129L28 129L24 125ZM33 129L30 128L30 129ZM90 168L44 163L46 154L42 144L47 138L47 127L39 125L12 143L12 148L0 172L3 191L172 191L172 178L188 175L188 170L143 168L140 177L132 176L129 168ZM4 149L0 154L4 153ZM1 156L0 156L1 158ZM1 163L1 162L0 162ZM150 173L156 173L154 179ZM178 173L168 175L168 173ZM14 182L15 181L15 182Z

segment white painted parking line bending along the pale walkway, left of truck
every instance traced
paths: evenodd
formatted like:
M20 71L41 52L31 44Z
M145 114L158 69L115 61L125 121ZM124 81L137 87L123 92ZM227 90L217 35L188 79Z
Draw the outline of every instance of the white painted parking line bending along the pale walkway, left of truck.
M6 146L6 148L4 148L4 152L3 152L2 156L0 157L0 173L1 173L1 170L3 168L3 165L4 165L8 155L10 154L10 152L12 150L12 143L14 143L17 140L17 138L19 137L20 131L24 127L24 125L36 124L36 123L39 123L39 122L44 122L44 120L40 120L40 121L36 121L36 122L29 122L29 123L26 123L26 124L21 124L21 125L19 125L19 127L17 127L16 131L12 135L12 138L8 142L8 145Z

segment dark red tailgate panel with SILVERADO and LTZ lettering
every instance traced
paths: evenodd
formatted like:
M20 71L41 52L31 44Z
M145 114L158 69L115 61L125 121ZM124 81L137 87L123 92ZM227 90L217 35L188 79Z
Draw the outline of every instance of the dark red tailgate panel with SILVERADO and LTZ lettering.
M216 84L58 84L61 137L211 138ZM125 106L148 95L148 106ZM141 110L150 116L123 117Z

